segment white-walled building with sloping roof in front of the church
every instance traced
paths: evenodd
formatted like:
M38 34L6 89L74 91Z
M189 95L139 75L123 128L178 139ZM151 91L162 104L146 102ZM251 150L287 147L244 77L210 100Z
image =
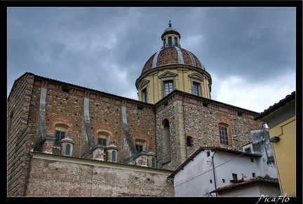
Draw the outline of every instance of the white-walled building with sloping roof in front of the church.
M201 147L168 179L174 182L175 197L279 196L278 180L264 175L262 159L260 154Z

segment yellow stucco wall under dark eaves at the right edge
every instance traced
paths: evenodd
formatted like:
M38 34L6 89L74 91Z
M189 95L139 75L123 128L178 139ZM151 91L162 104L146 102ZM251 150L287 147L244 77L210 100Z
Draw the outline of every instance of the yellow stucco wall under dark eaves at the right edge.
M272 143L275 154L281 194L283 196L296 195L296 133L295 117L269 129L272 137L280 140Z

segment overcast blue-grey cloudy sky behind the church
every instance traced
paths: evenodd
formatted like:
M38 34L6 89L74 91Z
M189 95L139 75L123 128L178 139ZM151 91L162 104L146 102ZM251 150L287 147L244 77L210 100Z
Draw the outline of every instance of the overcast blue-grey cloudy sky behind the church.
M295 7L7 8L7 97L26 72L137 100L171 20L211 99L263 112L296 90Z

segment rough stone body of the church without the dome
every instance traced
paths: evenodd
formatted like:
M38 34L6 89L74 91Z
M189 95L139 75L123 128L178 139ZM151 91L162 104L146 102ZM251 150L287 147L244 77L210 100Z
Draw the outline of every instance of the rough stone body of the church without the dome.
M25 73L8 96L8 196L174 196L167 180L173 170L201 146L241 151L252 142L250 131L262 129L256 115L177 90L153 105ZM220 122L229 125L229 145L220 144ZM57 124L68 127L71 156L54 145ZM100 159L106 149L97 145L100 131L116 147L116 162ZM35 157L40 154L43 159Z

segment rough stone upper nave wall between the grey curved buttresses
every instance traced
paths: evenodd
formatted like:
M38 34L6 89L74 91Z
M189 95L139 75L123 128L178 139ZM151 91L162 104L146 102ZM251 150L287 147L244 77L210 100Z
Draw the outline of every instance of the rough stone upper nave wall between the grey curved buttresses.
M41 83L36 82L37 90L34 92L34 97L36 98L39 98L40 93L38 88L41 86ZM75 143L73 156L81 157L90 149L84 124L84 97L90 99L89 122L95 144L97 144L97 138L95 136L97 136L98 131L106 131L109 133L109 144L113 143L118 147L118 162L130 156L127 152L128 148L123 146L126 143L124 142L125 136L122 131L122 105L127 108L128 129L133 143L135 143L135 139L146 140L147 150L145 151L156 151L154 140L154 112L150 105L142 107L141 110L135 103L111 98L109 96L102 96L100 94L87 93L79 89L69 89L69 92L62 92L62 87L48 82L46 96L46 134L55 138L55 124L67 124L69 130L65 137L71 138ZM58 151L53 150L52 152L54 154Z

